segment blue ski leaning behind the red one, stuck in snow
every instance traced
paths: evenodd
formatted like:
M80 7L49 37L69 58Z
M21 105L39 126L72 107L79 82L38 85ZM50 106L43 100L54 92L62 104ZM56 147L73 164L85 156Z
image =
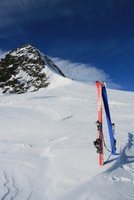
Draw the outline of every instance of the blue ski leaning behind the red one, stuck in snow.
M111 153L112 153L112 155L116 155L116 140L115 140L114 134L113 134L113 128L112 128L111 116L110 116L110 109L109 109L109 104L108 104L108 96L107 96L105 83L102 85L102 98L103 98L103 103L104 103L104 108L105 108L105 113L106 113L106 119L107 119L107 125L108 125L108 130L109 130Z

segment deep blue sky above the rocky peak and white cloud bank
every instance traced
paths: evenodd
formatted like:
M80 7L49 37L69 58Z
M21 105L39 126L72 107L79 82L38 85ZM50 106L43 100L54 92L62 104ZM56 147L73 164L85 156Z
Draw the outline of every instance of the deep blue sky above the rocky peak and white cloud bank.
M133 0L1 0L0 53L25 43L134 91Z

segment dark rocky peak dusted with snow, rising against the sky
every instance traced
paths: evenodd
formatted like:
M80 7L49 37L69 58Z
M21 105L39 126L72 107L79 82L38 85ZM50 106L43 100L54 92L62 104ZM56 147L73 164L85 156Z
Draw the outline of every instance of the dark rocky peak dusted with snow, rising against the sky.
M51 84L54 74L64 77L51 59L31 44L9 52L0 61L0 87L3 93L37 91Z

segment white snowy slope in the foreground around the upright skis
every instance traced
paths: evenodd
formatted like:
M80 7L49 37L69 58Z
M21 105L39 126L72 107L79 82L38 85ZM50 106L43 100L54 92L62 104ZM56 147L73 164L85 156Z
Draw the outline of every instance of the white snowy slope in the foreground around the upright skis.
M105 151L99 167L95 86L57 75L38 92L0 94L0 199L132 200L134 94L108 95L120 154ZM104 134L109 146L106 124Z

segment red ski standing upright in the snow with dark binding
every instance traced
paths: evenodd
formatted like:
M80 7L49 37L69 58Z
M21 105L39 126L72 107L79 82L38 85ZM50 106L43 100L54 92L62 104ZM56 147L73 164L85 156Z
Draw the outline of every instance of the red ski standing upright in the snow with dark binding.
M98 120L97 120L97 130L98 130L98 146L99 148L99 165L104 165L104 156L103 156L103 132L102 132L102 83L96 81L97 87L97 96L98 96Z

